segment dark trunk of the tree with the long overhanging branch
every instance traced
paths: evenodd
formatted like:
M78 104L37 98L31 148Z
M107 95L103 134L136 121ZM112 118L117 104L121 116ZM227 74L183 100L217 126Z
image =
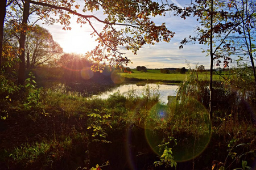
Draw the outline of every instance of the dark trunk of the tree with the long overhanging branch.
M18 84L24 85L25 82L25 40L26 40L26 28L27 20L30 12L30 2L25 1L23 19L22 19L22 31L20 32L19 39L19 50L21 52L19 59L19 73L18 73Z

